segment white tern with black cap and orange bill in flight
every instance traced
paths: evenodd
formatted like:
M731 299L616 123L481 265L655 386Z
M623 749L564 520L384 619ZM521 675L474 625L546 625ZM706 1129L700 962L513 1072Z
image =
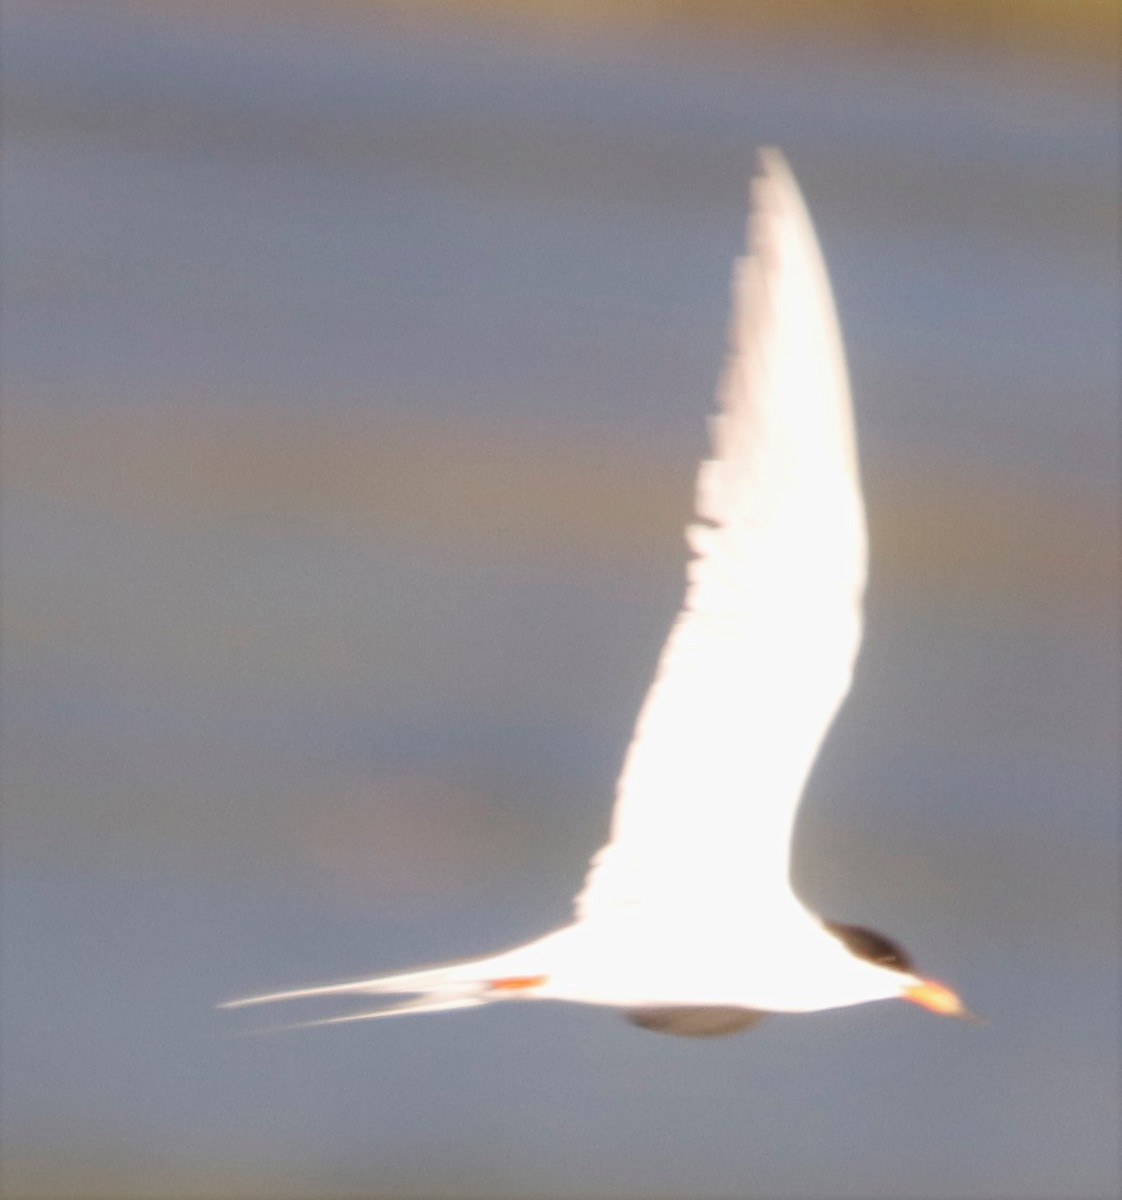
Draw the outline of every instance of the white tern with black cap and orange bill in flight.
M469 962L222 1007L413 997L318 1025L554 1000L694 1036L894 997L972 1015L894 942L823 920L790 883L799 797L860 643L866 547L841 334L776 150L761 154L732 301L685 601L571 924Z

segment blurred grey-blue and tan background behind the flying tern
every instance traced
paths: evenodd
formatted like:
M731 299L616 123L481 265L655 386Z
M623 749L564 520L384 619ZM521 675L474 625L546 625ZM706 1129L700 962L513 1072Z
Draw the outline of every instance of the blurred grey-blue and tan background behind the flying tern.
M1117 22L8 0L5 1196L1116 1194ZM566 919L761 144L872 535L797 878L990 1025L242 1036Z

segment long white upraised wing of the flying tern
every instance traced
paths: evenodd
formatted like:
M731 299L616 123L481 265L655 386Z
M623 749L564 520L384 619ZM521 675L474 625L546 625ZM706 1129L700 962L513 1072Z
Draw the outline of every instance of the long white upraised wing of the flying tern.
M841 335L778 151L752 202L685 602L578 919L790 908L799 797L852 677L865 524Z

